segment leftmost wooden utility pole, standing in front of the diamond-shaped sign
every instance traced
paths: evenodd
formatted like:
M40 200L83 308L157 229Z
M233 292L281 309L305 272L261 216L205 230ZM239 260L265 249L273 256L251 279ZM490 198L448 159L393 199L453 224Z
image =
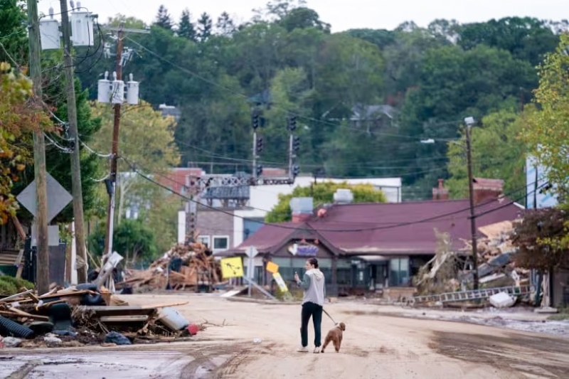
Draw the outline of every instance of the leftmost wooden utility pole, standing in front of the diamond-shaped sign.
M28 33L30 52L30 76L33 81L33 102L41 108L40 25L38 2L28 0ZM33 173L36 180L36 288L38 294L49 291L48 247L48 195L46 187L46 140L43 130L33 132Z

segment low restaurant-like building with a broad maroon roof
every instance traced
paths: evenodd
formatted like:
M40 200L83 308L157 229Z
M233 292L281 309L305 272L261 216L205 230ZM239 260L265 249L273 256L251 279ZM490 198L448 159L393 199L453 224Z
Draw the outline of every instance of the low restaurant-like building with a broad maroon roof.
M477 227L520 217L523 207L501 196L501 181L474 181ZM331 292L375 290L409 286L419 267L435 255L435 230L449 233L457 251L471 237L468 199L336 203L316 212L312 199L304 202L310 206L292 204L291 222L263 225L223 255L244 256L255 246L255 277L263 284L270 281L266 262L275 262L282 277L292 281L295 271L302 274L307 257L317 257Z

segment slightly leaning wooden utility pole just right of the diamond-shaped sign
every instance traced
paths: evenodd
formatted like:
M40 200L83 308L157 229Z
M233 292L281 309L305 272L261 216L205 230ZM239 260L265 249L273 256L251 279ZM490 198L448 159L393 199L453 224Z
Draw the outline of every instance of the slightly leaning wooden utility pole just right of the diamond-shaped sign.
M87 252L83 227L83 189L81 188L80 144L75 105L75 75L71 58L71 36L67 1L60 0L61 28L63 29L63 63L65 64L65 92L67 92L67 116L70 137L73 139L71 154L71 193L73 193L73 221L75 226L75 250L83 262L77 267L79 283L87 282Z

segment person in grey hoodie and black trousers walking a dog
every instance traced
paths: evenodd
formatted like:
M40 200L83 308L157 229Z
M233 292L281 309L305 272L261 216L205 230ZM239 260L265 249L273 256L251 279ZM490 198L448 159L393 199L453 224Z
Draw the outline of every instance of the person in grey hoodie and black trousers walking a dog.
M294 273L294 280L304 291L300 318L300 339L302 345L298 351L303 353L308 351L308 321L312 316L312 324L314 324L314 353L319 353L321 345L322 306L324 305L326 292L324 287L324 274L318 268L318 260L316 258L307 260L304 268L307 271L304 273L302 281L299 279L298 274L296 272Z

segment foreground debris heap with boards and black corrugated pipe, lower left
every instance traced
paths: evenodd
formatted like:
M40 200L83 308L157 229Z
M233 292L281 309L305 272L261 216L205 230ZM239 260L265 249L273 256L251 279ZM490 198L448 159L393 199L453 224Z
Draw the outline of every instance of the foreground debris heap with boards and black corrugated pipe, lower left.
M0 336L5 347L177 341L203 330L173 308L186 303L129 306L90 283L65 289L54 286L42 295L23 288L0 297Z

